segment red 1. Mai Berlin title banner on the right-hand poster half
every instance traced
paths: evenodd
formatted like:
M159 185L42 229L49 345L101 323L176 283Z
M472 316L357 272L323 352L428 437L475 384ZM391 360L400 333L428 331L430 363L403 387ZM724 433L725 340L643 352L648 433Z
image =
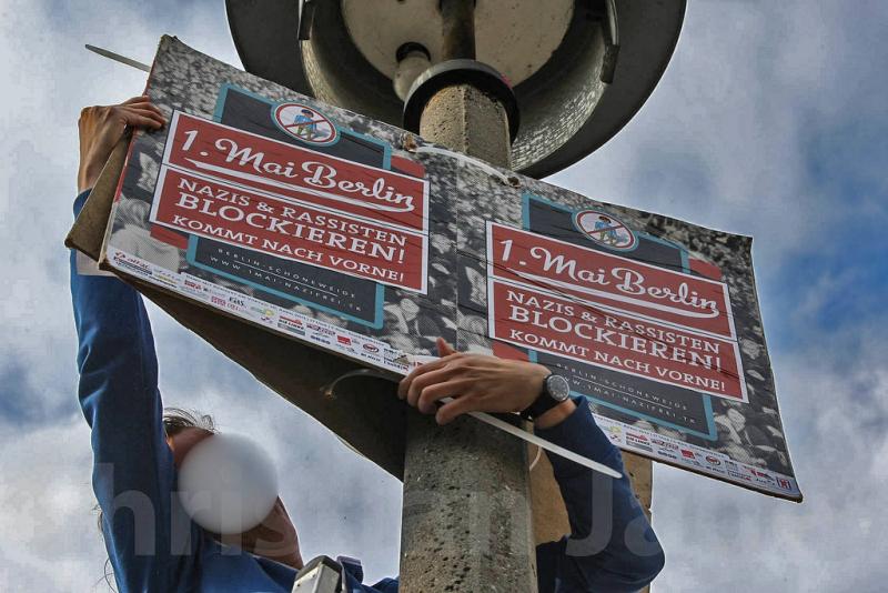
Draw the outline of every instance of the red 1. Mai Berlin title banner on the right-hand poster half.
M490 223L490 274L682 328L734 338L727 285Z

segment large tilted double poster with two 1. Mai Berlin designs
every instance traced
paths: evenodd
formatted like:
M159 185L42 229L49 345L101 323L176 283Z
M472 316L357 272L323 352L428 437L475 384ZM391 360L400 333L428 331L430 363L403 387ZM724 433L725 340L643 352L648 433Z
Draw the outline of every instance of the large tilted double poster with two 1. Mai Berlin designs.
M624 450L800 499L750 240L501 171L163 38L103 265L365 365L566 376Z

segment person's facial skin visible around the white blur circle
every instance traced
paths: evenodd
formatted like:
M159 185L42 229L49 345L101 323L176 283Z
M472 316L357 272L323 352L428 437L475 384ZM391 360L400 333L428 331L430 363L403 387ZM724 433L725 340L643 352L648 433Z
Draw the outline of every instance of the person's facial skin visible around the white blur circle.
M173 453L175 466L181 466L185 455L194 445L211 436L211 432L196 428L184 429L173 436L168 436L167 443ZM261 524L240 534L216 536L216 540L294 569L302 569L303 565L296 527L280 497Z

